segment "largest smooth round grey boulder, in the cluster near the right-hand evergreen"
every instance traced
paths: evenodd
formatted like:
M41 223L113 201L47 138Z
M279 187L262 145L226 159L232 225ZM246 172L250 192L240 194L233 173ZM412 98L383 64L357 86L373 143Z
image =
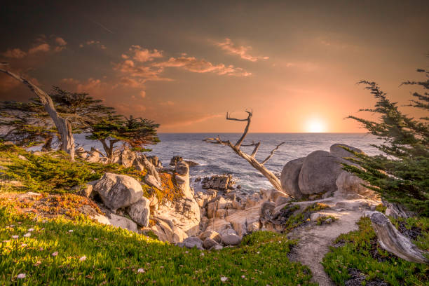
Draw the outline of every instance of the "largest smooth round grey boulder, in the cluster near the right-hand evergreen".
M343 172L340 163L345 162L327 151L308 154L299 173L299 190L305 195L336 191L336 179Z

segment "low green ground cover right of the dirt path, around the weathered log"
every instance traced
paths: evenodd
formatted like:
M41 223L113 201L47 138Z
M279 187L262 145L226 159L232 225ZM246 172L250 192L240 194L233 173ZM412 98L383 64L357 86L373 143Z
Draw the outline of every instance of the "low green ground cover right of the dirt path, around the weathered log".
M428 266L405 261L383 250L377 243L369 218L362 218L357 224L359 230L336 238L334 243L344 245L331 247L331 252L322 261L325 271L337 285L344 285L350 279L348 272L352 268L363 273L367 281L379 278L389 285L428 285ZM416 244L428 250L429 220L413 218L406 224L421 227L422 236Z

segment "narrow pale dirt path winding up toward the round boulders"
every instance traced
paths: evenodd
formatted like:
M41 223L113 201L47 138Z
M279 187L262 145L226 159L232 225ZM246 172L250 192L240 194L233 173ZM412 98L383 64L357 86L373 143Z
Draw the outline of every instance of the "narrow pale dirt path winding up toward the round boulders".
M313 282L318 282L320 286L331 286L334 285L334 282L325 273L320 262L329 251L329 245L332 245L335 238L341 233L357 230L356 222L362 216L362 211L344 210L336 212L327 210L323 214L333 215L339 219L332 224L322 226L312 224L290 233L290 238L299 239L297 246L293 248L290 254L290 259L308 266L313 273Z

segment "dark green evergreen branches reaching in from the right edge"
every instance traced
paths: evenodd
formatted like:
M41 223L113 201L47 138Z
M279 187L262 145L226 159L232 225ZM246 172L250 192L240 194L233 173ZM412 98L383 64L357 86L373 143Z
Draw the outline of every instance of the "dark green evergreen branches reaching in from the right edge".
M418 69L426 81L407 81L403 84L423 88L423 94L414 93L409 106L429 111L429 73ZM400 203L422 216L429 216L429 117L411 118L391 102L386 93L374 82L361 81L377 102L374 109L362 109L379 115L379 122L349 116L360 122L370 133L383 139L383 144L373 145L383 152L379 156L355 154L351 159L362 168L345 165L344 169L364 179L369 189L382 198Z

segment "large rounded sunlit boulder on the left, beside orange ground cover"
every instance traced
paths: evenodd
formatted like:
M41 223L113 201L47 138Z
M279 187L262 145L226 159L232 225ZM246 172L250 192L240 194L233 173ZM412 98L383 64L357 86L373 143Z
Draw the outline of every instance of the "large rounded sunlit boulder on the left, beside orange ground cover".
M114 211L128 207L143 197L142 186L136 179L112 173L104 173L93 186L93 191L100 195L104 205Z

